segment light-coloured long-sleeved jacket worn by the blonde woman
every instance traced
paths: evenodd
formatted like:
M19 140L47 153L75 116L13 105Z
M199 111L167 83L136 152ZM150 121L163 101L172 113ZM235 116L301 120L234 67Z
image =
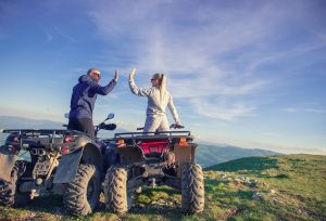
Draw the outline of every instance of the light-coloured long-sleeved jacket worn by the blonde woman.
M166 95L161 100L160 98L160 90L156 88L138 88L133 80L129 80L129 87L134 94L139 96L147 96L148 98L148 105L146 115L147 116L154 116L154 115L166 115L165 109L168 106L168 109L173 116L173 119L176 123L179 123L178 113L174 107L172 95L166 91Z

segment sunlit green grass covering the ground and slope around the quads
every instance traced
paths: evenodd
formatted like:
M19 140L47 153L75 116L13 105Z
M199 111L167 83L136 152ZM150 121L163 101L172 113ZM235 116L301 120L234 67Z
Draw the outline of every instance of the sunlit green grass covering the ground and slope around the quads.
M61 197L40 197L27 207L0 207L0 220L326 220L326 156L247 157L206 168L205 209L180 212L180 194L146 187L127 214L100 205L88 217L71 217Z

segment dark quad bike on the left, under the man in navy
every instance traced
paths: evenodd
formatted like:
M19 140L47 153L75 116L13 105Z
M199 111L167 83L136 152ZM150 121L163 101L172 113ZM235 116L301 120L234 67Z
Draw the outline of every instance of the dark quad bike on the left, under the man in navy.
M108 128L104 122L97 126L97 130ZM93 140L75 130L3 132L10 135L0 151L1 206L22 206L40 195L59 194L71 213L92 212L106 169Z

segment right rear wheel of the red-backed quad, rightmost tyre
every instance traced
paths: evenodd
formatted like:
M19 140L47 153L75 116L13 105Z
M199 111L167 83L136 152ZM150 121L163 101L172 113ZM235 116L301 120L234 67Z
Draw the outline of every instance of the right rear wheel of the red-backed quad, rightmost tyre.
M204 207L203 173L199 165L186 164L183 169L181 180L183 211L197 213Z

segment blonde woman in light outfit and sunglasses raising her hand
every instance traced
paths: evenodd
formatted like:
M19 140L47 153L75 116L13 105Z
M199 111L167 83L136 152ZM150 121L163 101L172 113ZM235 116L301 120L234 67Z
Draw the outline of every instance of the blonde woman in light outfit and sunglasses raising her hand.
M151 79L152 88L145 89L136 86L134 81L135 72L136 69L131 69L129 75L130 90L136 95L148 98L143 132L170 130L165 113L166 106L168 106L175 123L181 126L172 95L166 91L166 76L164 74L154 74Z

